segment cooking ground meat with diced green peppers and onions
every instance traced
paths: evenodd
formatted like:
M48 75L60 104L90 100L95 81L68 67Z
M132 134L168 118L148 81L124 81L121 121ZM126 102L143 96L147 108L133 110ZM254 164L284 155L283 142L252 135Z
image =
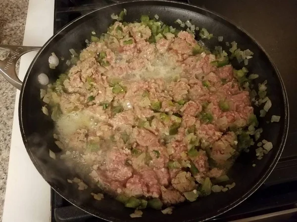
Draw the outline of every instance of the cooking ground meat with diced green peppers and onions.
M257 95L248 87L256 74L233 69L221 47L211 53L195 40L195 26L177 23L190 29L142 16L93 32L79 55L70 50L74 65L42 91L61 157L82 163L126 207L162 209L231 189L235 183L219 183L262 132L250 97L271 107L266 82ZM212 37L205 29L199 36ZM235 42L230 51L245 64L252 55ZM272 148L263 143L259 159Z

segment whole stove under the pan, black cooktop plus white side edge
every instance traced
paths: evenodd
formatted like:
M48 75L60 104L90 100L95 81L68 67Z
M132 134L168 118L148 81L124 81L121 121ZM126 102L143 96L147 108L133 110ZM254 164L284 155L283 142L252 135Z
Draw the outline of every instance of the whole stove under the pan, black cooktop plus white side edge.
M53 33L77 17L119 1L121 0L30 0L24 45L42 46ZM297 53L294 50L297 48L297 1L189 2L229 18L257 39L278 67L285 82L290 104L287 143L272 174L242 204L211 221L297 221L297 106L294 104L297 100ZM39 21L40 18L43 18L42 23ZM31 52L21 58L21 79L35 54ZM103 222L73 206L53 191L34 168L19 132L18 97L19 92L16 96L2 222ZM15 209L18 210L17 214Z

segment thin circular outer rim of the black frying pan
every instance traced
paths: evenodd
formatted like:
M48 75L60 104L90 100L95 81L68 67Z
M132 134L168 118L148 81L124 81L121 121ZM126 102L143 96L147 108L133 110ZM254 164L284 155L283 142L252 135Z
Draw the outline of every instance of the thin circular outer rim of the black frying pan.
M60 29L57 33L55 33L52 37L49 38L49 40L43 45L43 47L41 48L41 50L37 53L37 55L35 56L35 58L33 59L32 63L30 64L29 68L28 68L28 71L24 77L24 81L23 81L23 85L22 85L22 88L21 88L21 92L20 92L20 97L19 97L19 125L20 125L20 131L21 131L21 135L22 135L22 139L23 139L23 143L26 147L26 150L32 160L32 162L34 163L35 167L37 168L37 170L39 171L39 173L41 175L43 175L42 173L42 170L40 169L41 167L39 166L38 162L35 160L31 150L28 148L28 142L27 142L27 139L26 139L26 135L25 135L25 130L24 130L24 127L23 127L23 109L22 109L22 106L23 106L23 96L24 96L24 89L25 89L25 86L26 86L26 83L27 83L27 80L28 80L28 76L35 64L35 62L37 61L38 57L40 56L40 54L42 54L43 50L46 48L46 46L56 37L58 36L63 30L65 30L66 28L68 28L69 26L71 26L73 23L75 23L76 21L84 18L85 16L88 16L96 11L99 11L99 10L103 10L104 8L108 8L108 7L111 7L111 6L115 6L115 5L122 5L122 4L126 4L126 3L137 3L137 2L146 2L148 3L149 5L153 5L154 2L164 2L164 3L172 3L172 4L175 4L175 5L186 5L186 6L190 6L192 8L197 8L199 10L202 10L204 12L207 12L207 13L210 13L211 15L215 16L215 17L218 17L224 21L226 21L227 23L229 23L234 29L237 29L239 31L241 31L244 35L246 35L247 37L249 37L253 43L256 44L256 46L264 53L264 55L267 57L269 63L271 64L272 68L274 69L277 77L278 77L278 80L280 82L280 86L281 86L281 91L282 91L282 95L283 95L283 101L284 101L284 113L285 113L285 116L284 116L284 125L283 125L283 132L282 133L282 138L281 138L281 141L280 141L280 144L278 146L278 151L277 153L275 154L275 157L273 158L271 164L269 165L269 167L266 169L265 172L262 173L260 179L258 180L258 182L256 184L254 184L252 187L250 187L246 192L245 194L240 197L239 199L237 199L236 201L234 202L231 202L229 205L223 207L223 208L220 208L218 211L216 212L211 212L211 213L208 213L206 214L203 218L202 218L202 221L206 221L206 220L209 220L209 219L212 219L214 217L217 217L229 210L231 210L232 208L236 207L237 205L239 205L240 203L242 203L244 200L247 199L247 197L249 197L253 192L255 192L259 187L260 185L262 185L264 183L264 181L268 178L268 176L271 174L272 170L274 169L274 167L276 166L281 154L282 154L282 151L284 149L284 146L285 146L285 143L286 143L286 140L287 140L287 135L288 135L288 130L289 130L289 102L288 102L288 96L287 96L287 92L286 92L286 88L285 88L285 84L283 82L283 79L281 77L281 74L279 73L276 65L274 64L274 62L272 61L272 59L270 58L270 56L267 54L267 52L265 51L265 49L249 34L247 33L247 31L245 31L244 29L242 29L241 27L239 27L236 23L234 23L233 21L230 21L229 19L227 19L226 17L216 13L216 12L213 12L213 11L210 11L208 9L205 9L205 8L202 8L202 7L199 7L199 6L196 6L196 5L193 5L193 4L190 4L190 3L185 3L185 2L178 2L178 1L173 1L173 0L132 0L132 1L124 1L124 2L117 2L117 3L113 3L113 4L109 4L109 5L106 5L106 6L103 6L103 7L100 7L98 9L95 9L89 13L86 13L85 15L82 15L80 17L78 17L77 19L71 21L69 24L67 24L66 26L64 26L62 29ZM166 5L168 6L168 5ZM198 13L198 12L197 12ZM280 135L278 135L280 136ZM49 185L51 185L50 182L47 182L49 183ZM59 190L59 188L55 188L51 185L51 188L53 188L57 193L61 194L63 196L63 192L61 190ZM94 211L94 210L90 210L88 207L85 207L85 206L77 206L77 204L75 203L75 200L72 199L72 198L67 198L67 200L69 202L71 202L71 204L75 205L76 207L82 209L83 211L86 211L87 213L91 214L91 215L94 215L96 217L101 217L103 218L104 220L112 220L114 218L111 218L107 215L102 215L100 214L98 211ZM195 221L195 219L191 219L191 220L188 220L187 222L192 222L192 221Z

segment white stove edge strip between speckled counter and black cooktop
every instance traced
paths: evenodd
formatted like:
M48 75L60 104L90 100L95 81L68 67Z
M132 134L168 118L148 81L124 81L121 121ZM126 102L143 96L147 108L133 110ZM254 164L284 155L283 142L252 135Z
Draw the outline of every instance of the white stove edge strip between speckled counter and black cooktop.
M53 35L54 0L29 0L23 45L42 46ZM22 80L36 52L22 56ZM24 147L18 121L16 92L8 177L2 222L49 222L50 186L38 173Z

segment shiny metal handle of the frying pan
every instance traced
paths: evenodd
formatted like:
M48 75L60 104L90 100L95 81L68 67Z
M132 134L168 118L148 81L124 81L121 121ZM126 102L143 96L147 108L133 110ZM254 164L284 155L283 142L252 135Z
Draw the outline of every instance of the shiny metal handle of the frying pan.
M19 46L19 45L0 45L0 74L14 87L21 90L22 81L16 74L16 62L25 53L31 52L41 47Z

